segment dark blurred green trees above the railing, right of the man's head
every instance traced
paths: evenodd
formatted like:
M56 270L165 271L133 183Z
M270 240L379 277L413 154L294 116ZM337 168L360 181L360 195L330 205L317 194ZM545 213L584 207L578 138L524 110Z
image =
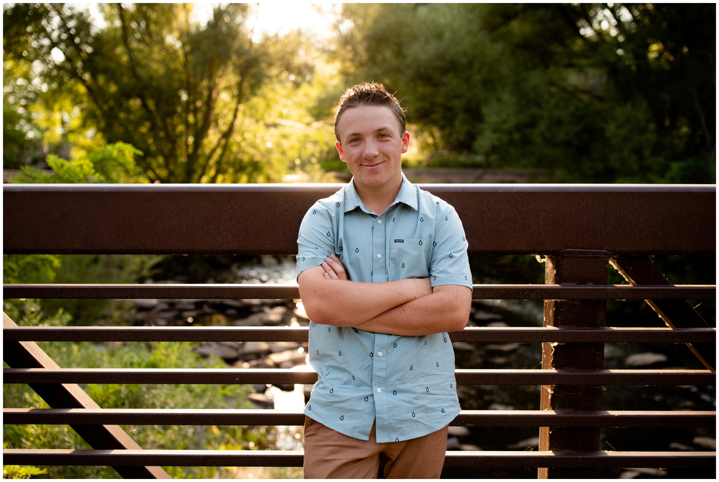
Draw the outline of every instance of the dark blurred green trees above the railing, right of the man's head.
M345 4L347 83L398 91L428 165L715 179L714 4Z

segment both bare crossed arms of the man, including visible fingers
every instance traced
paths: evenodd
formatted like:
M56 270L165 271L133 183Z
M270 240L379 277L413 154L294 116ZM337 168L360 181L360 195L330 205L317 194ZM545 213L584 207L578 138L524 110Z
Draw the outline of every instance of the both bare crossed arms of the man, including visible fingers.
M385 283L348 281L335 255L304 270L297 281L308 317L319 324L422 336L461 331L470 317L472 290L467 286L432 288L429 278Z

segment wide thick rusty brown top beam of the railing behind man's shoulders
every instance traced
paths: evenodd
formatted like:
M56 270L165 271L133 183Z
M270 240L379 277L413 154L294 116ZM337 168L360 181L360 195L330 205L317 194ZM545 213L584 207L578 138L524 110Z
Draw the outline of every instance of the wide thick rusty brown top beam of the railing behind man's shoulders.
M307 209L341 187L6 184L4 253L290 255ZM715 251L713 185L421 187L457 209L470 254Z

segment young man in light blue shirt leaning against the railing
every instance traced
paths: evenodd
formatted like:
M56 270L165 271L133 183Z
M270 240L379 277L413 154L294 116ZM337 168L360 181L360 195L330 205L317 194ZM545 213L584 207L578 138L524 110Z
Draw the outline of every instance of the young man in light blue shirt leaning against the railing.
M472 301L454 208L402 173L403 109L381 84L347 89L334 132L352 181L300 227L300 295L317 381L305 478L439 478L459 414L454 352Z

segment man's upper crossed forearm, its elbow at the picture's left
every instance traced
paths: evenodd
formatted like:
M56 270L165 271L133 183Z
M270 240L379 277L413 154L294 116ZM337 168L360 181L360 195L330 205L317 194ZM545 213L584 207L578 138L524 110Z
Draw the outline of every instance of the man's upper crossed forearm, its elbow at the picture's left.
M310 271L313 268L310 268ZM395 306L426 296L418 280L358 283L329 280L301 273L298 283L307 316L315 323L350 327L377 317ZM426 282L429 286L429 282Z

